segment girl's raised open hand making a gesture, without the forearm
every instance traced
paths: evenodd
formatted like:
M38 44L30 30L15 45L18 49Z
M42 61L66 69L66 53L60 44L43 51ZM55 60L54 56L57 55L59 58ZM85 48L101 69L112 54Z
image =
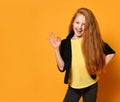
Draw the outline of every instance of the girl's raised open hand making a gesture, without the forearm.
M60 44L61 44L61 38L60 37L55 37L53 33L50 34L49 40L54 47L54 49L59 49Z

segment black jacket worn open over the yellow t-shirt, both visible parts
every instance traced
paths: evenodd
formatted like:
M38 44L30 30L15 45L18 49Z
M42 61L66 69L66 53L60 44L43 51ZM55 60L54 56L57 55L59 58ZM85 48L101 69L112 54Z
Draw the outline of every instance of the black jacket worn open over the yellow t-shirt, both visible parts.
M104 43L103 51L105 55L115 53L115 51L107 43ZM71 58L72 58L71 37L67 37L66 39L62 40L61 47L60 47L60 53L65 63L64 69L60 71L64 72L66 70L65 77L64 77L64 83L67 84L68 78L69 78L69 72L71 68Z

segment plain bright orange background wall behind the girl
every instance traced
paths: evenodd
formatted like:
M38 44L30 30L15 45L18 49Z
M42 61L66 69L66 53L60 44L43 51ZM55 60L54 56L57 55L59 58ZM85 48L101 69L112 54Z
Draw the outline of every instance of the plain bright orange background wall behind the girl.
M1 0L0 102L62 102L67 85L48 37L50 32L66 37L80 7L93 11L103 39L116 51L99 80L97 102L119 102L119 4L119 0Z

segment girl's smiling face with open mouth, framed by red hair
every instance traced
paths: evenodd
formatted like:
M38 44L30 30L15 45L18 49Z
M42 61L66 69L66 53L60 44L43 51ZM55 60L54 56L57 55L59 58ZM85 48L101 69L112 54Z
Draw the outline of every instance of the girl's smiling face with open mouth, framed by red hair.
M73 21L74 38L80 38L85 29L85 16L78 13Z

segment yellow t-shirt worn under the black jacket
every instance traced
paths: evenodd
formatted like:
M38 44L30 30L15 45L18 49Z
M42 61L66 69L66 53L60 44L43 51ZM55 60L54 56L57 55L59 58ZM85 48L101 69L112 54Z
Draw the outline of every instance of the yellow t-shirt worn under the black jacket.
M92 79L89 75L84 57L81 49L82 38L77 40L71 40L72 47L72 66L70 72L70 86L72 88L85 88L97 82L98 76L96 79Z

